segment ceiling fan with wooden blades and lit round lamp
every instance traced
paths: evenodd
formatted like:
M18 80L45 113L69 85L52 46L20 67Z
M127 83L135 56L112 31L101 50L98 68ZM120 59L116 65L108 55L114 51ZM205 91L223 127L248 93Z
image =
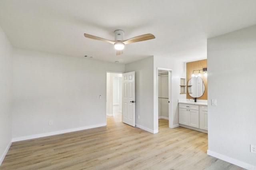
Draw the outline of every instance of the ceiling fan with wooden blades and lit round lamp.
M115 40L107 40L104 38L92 36L90 34L84 34L84 36L86 38L90 38L93 40L99 40L99 41L114 44L114 47L116 49L116 55L121 55L124 53L123 49L124 49L124 45L126 45L126 44L134 43L134 42L142 42L142 41L151 40L151 39L156 38L153 34L144 34L141 36L136 36L136 37L130 38L128 40L124 40L124 31L123 30L116 30L116 31L114 31L114 33L115 33Z

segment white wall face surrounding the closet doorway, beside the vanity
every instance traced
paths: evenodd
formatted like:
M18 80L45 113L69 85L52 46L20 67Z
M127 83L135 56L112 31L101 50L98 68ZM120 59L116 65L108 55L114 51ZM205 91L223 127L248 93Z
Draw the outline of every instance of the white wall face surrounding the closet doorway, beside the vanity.
M172 70L172 117L169 117L169 127L178 127L178 99L186 99L186 94L180 94L180 78L186 77L184 62L167 57L154 56L154 131L158 132L158 96L157 68Z

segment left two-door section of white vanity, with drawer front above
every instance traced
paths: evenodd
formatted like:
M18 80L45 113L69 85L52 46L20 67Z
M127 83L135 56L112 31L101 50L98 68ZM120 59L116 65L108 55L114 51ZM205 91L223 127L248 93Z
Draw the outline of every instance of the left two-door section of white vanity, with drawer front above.
M179 123L190 127L199 128L198 105L179 104Z

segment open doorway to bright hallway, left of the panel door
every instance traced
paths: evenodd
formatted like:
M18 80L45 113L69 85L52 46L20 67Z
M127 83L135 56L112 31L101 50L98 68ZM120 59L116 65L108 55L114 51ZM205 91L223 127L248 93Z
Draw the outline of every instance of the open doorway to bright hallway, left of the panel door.
M122 73L107 72L106 116L122 117ZM118 119L121 121L121 119Z

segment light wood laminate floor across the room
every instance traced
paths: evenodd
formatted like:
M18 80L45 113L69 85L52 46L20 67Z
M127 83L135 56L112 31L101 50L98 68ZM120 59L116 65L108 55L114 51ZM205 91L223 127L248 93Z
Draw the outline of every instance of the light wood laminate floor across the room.
M206 154L207 134L168 128L159 133L108 117L107 126L50 137L13 142L0 170L242 170Z

